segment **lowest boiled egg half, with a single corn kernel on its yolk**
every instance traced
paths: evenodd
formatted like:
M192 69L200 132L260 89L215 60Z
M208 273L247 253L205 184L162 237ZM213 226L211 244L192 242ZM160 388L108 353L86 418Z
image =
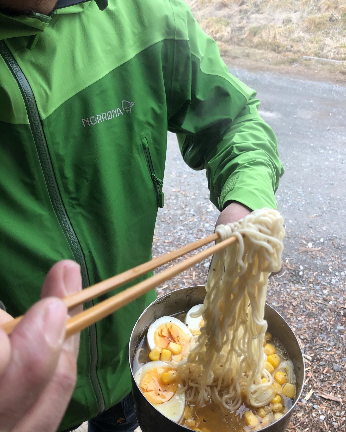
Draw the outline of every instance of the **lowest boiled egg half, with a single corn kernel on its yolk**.
M185 392L178 377L168 384L162 380L162 374L174 371L166 362L148 362L135 373L135 381L147 400L161 414L179 422L185 408Z

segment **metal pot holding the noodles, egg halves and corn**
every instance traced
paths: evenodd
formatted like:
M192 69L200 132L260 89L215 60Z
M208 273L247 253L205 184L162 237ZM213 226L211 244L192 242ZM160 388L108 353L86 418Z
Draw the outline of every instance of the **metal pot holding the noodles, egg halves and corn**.
M191 432L191 429L178 425L176 422L163 416L163 414L157 411L153 405L147 401L135 382L132 364L138 345L147 333L148 327L151 323L157 320L157 318L187 311L192 308L192 306L203 303L204 297L204 285L189 286L163 295L145 309L132 330L128 356L132 375L132 393L135 402L135 412L139 426L141 426L143 432ZM298 397L296 398L292 408L288 410L284 416L271 425L261 429L261 431L284 432L288 426L294 407L303 391L305 376L304 358L301 347L291 327L267 304L265 309L265 318L268 322L268 330L277 339L279 339L293 362L296 377L296 393Z

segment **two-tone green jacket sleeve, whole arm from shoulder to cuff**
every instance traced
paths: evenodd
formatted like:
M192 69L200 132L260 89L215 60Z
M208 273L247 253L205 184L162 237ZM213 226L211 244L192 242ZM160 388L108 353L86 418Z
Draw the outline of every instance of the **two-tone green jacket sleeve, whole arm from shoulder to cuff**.
M252 210L276 208L284 170L256 92L229 73L189 7L171 3L177 7L168 130L177 134L184 161L206 169L210 200L220 211L229 200Z

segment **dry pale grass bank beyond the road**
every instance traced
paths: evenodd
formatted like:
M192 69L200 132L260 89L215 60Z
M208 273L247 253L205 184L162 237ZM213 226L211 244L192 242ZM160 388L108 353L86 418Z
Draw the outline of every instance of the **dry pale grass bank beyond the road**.
M221 43L346 60L346 0L186 0Z

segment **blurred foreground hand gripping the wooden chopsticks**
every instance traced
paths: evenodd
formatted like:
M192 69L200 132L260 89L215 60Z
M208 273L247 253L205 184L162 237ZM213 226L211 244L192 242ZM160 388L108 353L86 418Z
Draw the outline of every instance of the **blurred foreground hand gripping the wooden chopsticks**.
M41 300L10 336L0 327L1 432L58 428L74 390L79 347L79 334L64 341L68 315L58 297L79 291L81 285L79 265L58 262L45 278ZM11 319L0 310L0 324Z

